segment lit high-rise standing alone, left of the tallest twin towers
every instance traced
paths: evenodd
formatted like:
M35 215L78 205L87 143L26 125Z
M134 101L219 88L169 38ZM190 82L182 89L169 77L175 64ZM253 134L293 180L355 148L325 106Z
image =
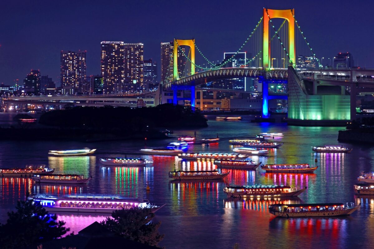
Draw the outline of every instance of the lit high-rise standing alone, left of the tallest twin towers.
M62 94L73 94L86 80L86 51L61 51Z

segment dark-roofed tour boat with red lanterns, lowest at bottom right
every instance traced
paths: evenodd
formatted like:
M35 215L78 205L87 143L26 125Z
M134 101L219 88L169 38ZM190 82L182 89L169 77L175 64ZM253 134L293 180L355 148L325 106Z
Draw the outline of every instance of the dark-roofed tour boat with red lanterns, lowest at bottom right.
M350 215L359 208L355 203L304 203L304 204L272 204L270 214L279 217L327 217Z

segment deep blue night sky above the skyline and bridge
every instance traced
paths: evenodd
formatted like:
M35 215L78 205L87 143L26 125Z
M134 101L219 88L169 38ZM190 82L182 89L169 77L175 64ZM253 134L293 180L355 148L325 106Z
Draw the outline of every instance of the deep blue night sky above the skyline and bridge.
M0 82L22 82L30 69L56 80L61 50L87 50L87 74L99 74L104 40L142 42L144 59L159 63L161 42L195 38L209 59L219 60L240 47L263 7L294 8L316 56L349 51L355 65L374 67L374 1L6 0L0 5Z

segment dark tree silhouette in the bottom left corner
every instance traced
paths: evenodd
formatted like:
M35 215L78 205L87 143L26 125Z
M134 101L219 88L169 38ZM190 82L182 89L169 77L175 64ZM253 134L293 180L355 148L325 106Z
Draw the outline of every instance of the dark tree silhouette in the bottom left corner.
M30 248L67 233L64 221L57 221L33 200L18 201L16 212L8 212L8 220L0 225L0 245L3 249Z

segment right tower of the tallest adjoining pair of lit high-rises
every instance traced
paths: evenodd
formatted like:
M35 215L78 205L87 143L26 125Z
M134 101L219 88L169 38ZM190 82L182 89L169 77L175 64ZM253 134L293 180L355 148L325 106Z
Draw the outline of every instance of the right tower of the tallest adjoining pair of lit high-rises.
M143 78L143 43L125 43L125 91L145 91ZM134 87L136 85L136 87Z

